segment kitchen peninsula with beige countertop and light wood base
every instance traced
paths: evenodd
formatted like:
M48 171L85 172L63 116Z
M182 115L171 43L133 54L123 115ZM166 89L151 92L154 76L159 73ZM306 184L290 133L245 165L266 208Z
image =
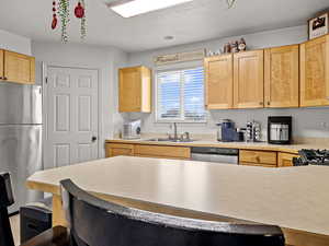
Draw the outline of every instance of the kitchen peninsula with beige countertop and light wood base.
M329 245L328 166L264 168L116 156L37 172L27 187L54 195L53 225L65 224L59 181L124 206L194 219L283 229L295 246ZM288 188L287 188L288 187Z

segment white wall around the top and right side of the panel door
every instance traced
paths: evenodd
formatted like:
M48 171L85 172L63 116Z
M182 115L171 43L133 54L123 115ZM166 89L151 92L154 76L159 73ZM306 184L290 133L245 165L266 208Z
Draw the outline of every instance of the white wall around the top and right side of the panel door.
M102 125L100 157L104 156L104 140L112 138L113 129L122 125L122 116L117 113L117 68L126 65L126 52L114 47L32 42L32 54L36 58L36 83L38 84L42 83L42 62L99 70Z

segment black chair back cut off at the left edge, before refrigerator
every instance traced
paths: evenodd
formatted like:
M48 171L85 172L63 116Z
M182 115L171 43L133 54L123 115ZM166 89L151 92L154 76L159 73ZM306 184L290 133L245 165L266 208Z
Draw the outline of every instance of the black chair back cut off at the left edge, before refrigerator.
M0 173L0 246L14 246L8 207L14 203L9 173Z

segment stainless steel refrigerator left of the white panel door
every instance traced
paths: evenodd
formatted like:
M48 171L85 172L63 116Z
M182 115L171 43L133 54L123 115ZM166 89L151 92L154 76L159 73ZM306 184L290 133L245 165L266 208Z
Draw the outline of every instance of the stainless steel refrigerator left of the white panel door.
M0 172L11 173L11 213L43 196L25 187L26 178L43 168L42 118L41 86L0 83Z

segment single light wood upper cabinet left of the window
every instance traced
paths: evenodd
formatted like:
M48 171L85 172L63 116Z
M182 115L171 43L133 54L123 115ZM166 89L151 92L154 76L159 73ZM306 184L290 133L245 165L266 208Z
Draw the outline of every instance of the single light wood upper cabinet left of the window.
M151 112L151 70L146 67L118 71L118 110Z

